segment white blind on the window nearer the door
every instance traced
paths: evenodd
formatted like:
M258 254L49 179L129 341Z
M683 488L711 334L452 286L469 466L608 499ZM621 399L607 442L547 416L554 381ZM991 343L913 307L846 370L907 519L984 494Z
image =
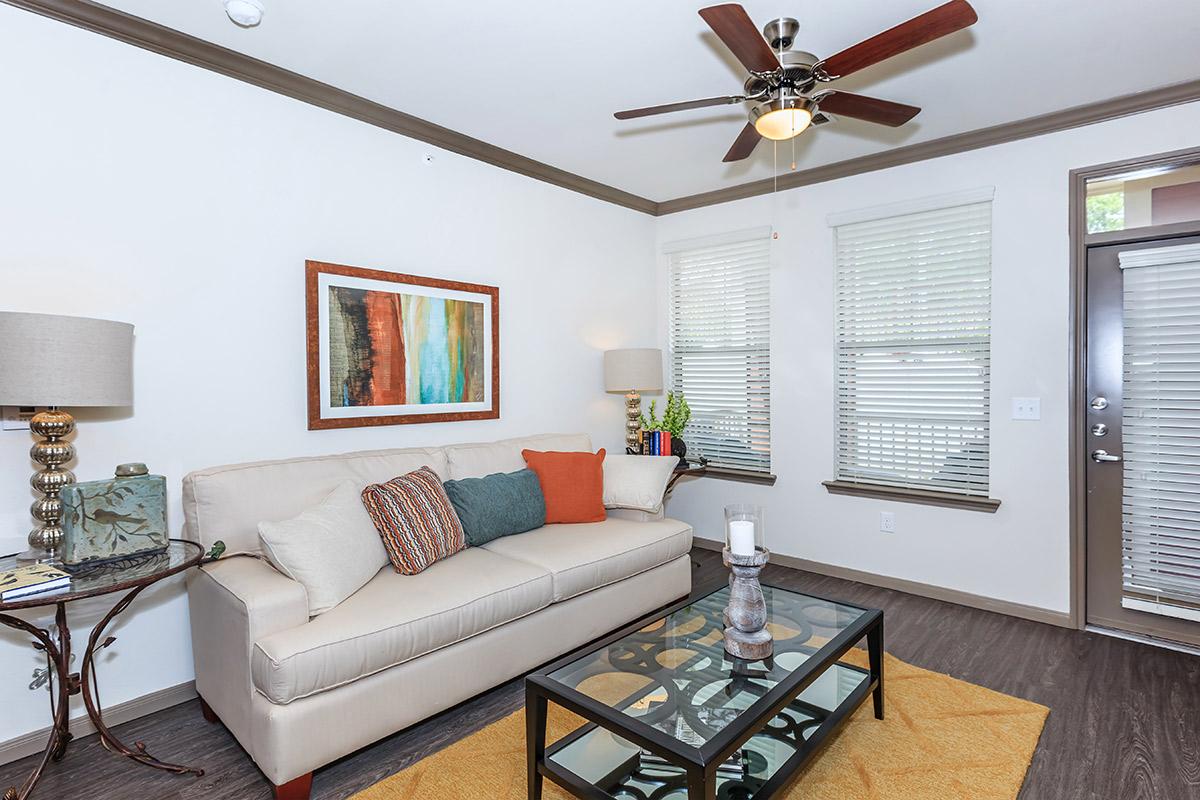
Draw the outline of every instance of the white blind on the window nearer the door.
M991 200L835 227L838 480L988 495Z

